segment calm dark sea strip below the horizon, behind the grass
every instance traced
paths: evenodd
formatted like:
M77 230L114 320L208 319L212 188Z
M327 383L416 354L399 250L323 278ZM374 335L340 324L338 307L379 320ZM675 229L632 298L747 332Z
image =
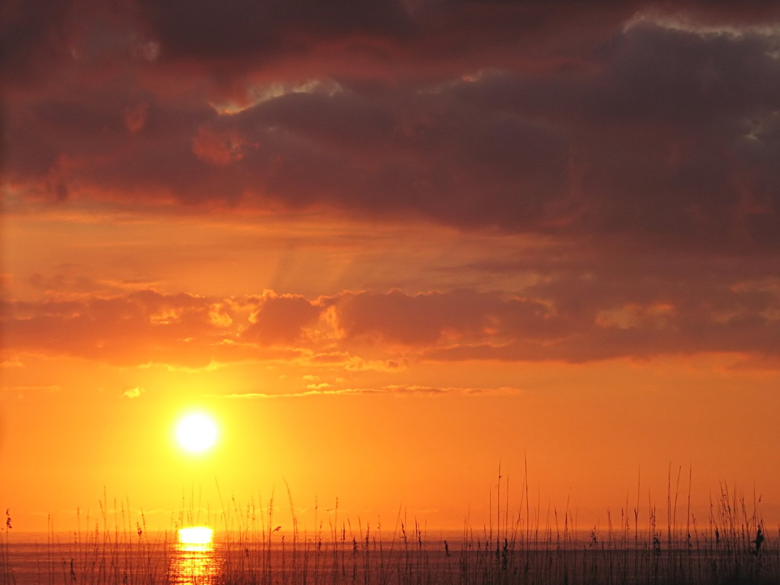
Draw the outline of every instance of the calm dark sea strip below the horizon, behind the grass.
M5 537L5 534L3 535ZM447 544L445 545L445 541ZM672 547L635 544L633 538L595 543L589 534L558 546L554 538L509 553L503 541L485 549L484 534L402 535L368 541L356 535L320 537L271 534L209 544L181 544L175 532L144 534L12 534L0 541L0 585L219 585L219 583L712 583L726 574L735 583L780 583L780 548L772 539L761 556L746 547ZM761 579L757 579L761 576ZM454 579L453 579L454 577ZM768 579L768 580L767 580Z

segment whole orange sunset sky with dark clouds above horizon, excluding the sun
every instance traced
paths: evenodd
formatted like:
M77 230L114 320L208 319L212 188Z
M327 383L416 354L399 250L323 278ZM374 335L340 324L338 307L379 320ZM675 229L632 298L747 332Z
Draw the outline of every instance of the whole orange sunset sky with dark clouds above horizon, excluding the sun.
M480 527L526 460L543 520L671 469L780 521L780 9L736 4L3 2L14 530L285 525L285 481Z

